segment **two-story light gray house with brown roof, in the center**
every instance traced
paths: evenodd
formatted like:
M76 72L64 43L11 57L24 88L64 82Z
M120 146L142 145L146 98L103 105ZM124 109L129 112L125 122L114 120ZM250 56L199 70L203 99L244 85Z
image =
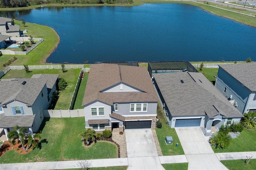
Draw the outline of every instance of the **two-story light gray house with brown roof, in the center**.
M144 67L91 65L82 103L86 128L155 128L157 103Z

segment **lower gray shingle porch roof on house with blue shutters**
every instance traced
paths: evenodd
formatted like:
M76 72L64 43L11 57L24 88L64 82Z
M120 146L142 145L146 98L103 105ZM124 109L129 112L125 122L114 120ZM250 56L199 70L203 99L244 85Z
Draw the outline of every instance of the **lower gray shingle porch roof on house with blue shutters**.
M10 128L18 125L19 127L32 127L36 114L32 116L5 116L0 114L0 128Z

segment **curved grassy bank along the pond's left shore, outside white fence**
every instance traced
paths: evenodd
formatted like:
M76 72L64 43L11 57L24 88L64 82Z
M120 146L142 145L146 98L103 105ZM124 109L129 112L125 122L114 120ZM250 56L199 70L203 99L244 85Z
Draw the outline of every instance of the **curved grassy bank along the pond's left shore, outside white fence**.
M28 53L28 55L2 55L0 57L0 70L2 71L6 68L3 67L3 63L6 63L13 56L16 56L18 59L11 63L11 65L40 65L46 63L47 57L58 45L58 34L52 28L47 26L26 22L26 26L24 27L21 24L21 21L18 20L15 20L15 24L20 25L20 30L28 30L28 36L31 35L33 38L44 38L44 41Z

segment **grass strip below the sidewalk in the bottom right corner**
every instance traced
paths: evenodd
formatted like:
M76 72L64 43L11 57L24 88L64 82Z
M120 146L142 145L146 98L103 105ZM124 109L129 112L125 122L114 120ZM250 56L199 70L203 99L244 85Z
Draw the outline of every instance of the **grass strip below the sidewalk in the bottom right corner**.
M246 165L244 160L221 160L222 164L224 164L229 170L255 170L256 167L256 159L251 159L249 164Z

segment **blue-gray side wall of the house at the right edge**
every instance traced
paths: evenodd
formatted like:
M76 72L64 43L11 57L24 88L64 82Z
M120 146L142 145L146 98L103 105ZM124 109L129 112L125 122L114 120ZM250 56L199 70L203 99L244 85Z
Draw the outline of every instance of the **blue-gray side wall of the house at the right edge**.
M244 113L245 106L250 95L250 90L247 89L234 79L231 75L229 75L222 68L219 68L218 78L216 79L215 87L228 99L230 95L232 95L232 99L234 102L237 102L237 109L241 113ZM226 87L226 92L224 89Z

